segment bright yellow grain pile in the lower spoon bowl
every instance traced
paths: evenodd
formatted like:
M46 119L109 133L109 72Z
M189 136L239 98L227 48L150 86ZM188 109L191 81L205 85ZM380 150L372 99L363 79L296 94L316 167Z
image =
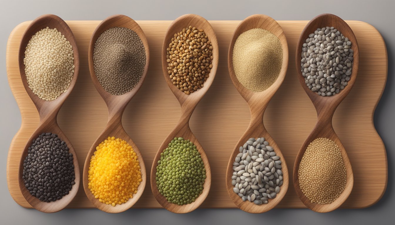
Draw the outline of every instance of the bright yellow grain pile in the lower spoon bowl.
M142 180L136 153L126 141L108 137L90 159L88 180L90 191L100 202L112 206L126 203Z

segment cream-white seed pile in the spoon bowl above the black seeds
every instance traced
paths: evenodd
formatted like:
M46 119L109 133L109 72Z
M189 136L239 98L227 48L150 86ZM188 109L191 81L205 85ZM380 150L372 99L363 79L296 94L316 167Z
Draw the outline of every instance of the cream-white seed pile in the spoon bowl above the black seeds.
M29 40L23 65L29 88L43 100L65 93L74 74L73 49L56 28L41 29Z

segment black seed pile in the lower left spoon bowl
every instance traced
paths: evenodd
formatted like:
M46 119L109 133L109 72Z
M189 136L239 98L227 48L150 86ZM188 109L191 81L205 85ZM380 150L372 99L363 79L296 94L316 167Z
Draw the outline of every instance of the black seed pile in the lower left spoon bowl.
M73 154L58 135L42 133L33 141L23 161L23 180L40 201L56 201L70 192L75 184Z

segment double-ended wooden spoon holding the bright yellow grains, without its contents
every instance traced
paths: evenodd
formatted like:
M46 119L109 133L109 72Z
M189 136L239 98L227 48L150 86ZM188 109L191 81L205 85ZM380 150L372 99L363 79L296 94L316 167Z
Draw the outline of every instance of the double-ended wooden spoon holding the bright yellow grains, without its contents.
M140 81L137 83L137 85L128 93L125 93L123 95L111 95L103 87L101 86L100 82L98 81L96 77L96 73L94 71L93 67L93 50L94 50L94 45L96 43L96 40L98 37L108 30L109 28L113 27L124 27L128 28L130 30L133 30L134 32L139 35L141 41L143 42L144 48L145 48L145 56L146 56L146 62L145 62L145 67L143 71L143 75L141 76ZM149 46L148 46L148 41L147 38L145 37L145 34L143 30L141 30L139 24L137 24L133 19L125 16L125 15L113 15L110 17L107 17L105 20L103 20L96 30L92 34L92 38L90 39L90 44L89 44L89 50L88 50L88 61L89 61L89 71L90 71L90 76L92 78L93 84L98 90L99 94L102 96L102 98L105 101L105 104L107 104L108 108L108 122L107 125L105 126L104 130L100 134L100 136L96 139L96 141L93 143L92 147L90 148L88 152L88 156L85 160L84 164L84 171L83 171L83 186L85 193L87 194L87 197L89 201L98 209L103 210L104 212L109 212L109 213L119 213L123 212L125 210L128 210L130 207L132 207L137 200L141 197L141 195L144 192L145 184L147 182L147 175L145 172L145 165L144 165L144 160L143 156L141 155L141 152L137 148L136 144L134 141L129 137L129 135L126 133L122 126L122 113L124 112L126 106L130 102L130 100L133 98L133 96L137 93L137 91L140 89L141 85L144 82L145 76L147 75L148 71L148 65L149 65ZM89 165L90 165L90 159L94 155L94 152L96 151L96 147L102 143L107 137L112 137L114 136L115 138L121 138L129 143L130 146L132 146L134 152L137 154L139 164L141 167L141 183L138 186L137 193L133 195L131 199L126 201L126 203L122 203L121 205L107 205L105 203L101 203L98 199L94 197L92 192L88 188L88 172L89 172Z

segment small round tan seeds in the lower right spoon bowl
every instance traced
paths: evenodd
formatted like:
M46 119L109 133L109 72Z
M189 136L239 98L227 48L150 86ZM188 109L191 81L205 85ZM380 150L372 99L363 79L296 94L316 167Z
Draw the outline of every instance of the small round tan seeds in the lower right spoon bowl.
M300 189L312 203L335 201L346 187L346 167L339 146L327 138L312 141L299 164L298 178Z

